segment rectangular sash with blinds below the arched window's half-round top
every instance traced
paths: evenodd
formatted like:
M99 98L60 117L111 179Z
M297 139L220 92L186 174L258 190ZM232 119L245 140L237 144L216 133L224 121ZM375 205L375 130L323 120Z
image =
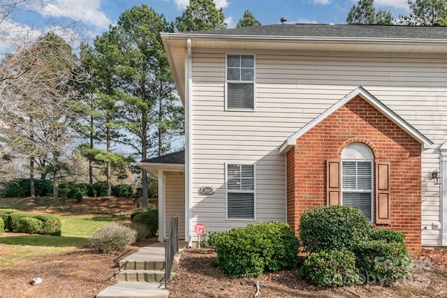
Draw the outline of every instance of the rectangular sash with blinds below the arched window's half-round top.
M342 161L342 204L357 207L372 221L372 161Z

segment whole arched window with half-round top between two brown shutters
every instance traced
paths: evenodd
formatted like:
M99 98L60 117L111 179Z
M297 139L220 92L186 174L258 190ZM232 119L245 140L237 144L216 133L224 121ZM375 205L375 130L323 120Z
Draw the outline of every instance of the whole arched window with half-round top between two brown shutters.
M342 151L342 205L357 207L373 221L374 154L366 144L354 142Z

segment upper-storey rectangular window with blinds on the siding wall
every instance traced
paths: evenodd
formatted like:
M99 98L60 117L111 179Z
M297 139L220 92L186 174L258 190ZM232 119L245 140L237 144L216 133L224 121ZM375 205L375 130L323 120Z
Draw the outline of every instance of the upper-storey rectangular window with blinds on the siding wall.
M254 56L228 55L226 109L254 110Z

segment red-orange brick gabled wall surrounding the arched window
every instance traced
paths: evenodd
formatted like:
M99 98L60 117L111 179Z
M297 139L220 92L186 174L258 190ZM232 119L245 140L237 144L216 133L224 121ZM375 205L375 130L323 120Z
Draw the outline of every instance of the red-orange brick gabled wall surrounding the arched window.
M326 165L352 142L363 142L374 161L390 162L389 225L404 232L416 253L421 241L420 144L360 96L298 138L287 158L287 218L296 231L303 211L326 203ZM374 179L375 181L375 179Z

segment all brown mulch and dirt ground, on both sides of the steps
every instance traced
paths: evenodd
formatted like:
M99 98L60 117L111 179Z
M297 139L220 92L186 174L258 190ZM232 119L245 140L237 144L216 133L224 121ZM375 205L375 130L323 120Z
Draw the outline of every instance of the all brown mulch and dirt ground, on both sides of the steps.
M2 202L5 201L0 201L0 204ZM75 214L91 214L92 211L98 214L111 209L126 213L135 207L131 202L113 202L113 206L108 206L103 200L87 199L81 205L73 204L70 209L70 213L74 211ZM55 212L54 209L46 211ZM113 274L117 271L119 260L137 251L138 246L145 246L151 241L154 239L131 246L117 255L101 255L87 247L73 248L0 270L0 297L94 297L115 283ZM10 249L0 246L0 254ZM216 254L210 249L184 250L177 274L168 283L170 297L254 297L258 281L258 297L447 298L447 253L441 251L423 250L415 261L413 278L391 288L379 285L316 288L303 281L297 270L265 274L260 278L232 279L210 265L213 258L216 258ZM32 285L31 281L36 277L42 278L43 282Z

